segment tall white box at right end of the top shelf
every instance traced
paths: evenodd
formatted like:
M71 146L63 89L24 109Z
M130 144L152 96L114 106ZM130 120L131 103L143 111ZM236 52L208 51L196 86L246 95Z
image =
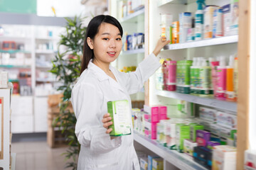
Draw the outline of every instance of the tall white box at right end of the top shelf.
M231 24L230 24L230 35L238 35L238 1L239 0L231 0L230 10L231 10Z

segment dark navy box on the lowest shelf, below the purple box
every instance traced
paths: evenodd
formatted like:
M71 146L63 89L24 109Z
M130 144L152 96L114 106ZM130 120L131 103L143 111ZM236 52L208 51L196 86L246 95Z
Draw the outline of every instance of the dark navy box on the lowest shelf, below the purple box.
M206 166L211 169L213 152L207 147L194 147L193 160L198 164Z

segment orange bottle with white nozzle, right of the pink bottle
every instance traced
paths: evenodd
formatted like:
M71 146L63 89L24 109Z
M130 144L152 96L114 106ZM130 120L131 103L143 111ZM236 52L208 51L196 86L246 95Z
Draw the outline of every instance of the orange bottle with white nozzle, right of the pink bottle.
M234 57L230 55L229 64L227 66L227 91L226 98L227 101L235 101L235 93L234 93Z

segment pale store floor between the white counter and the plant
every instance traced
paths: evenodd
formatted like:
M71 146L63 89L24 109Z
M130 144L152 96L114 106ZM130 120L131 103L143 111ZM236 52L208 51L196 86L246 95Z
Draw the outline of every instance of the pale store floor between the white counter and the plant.
M11 152L16 153L18 170L63 170L66 162L61 154L66 149L51 149L45 141L11 143Z

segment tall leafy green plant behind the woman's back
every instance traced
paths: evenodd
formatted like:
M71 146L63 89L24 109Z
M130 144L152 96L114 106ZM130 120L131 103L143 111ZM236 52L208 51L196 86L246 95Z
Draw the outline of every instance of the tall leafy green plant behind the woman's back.
M80 57L82 56L86 28L82 26L83 18L75 16L73 19L65 19L67 21L65 33L60 35L58 53L52 61L53 68L50 70L51 73L55 74L57 80L62 83L58 91L63 92L63 101L60 103L60 115L55 118L53 125L58 124L60 126L69 145L67 152L63 154L65 159L71 158L73 162L68 162L66 168L73 167L73 170L75 170L77 169L80 144L75 135L75 114L68 108L72 108L70 104L71 90L80 75ZM60 52L61 45L65 47L64 52Z

